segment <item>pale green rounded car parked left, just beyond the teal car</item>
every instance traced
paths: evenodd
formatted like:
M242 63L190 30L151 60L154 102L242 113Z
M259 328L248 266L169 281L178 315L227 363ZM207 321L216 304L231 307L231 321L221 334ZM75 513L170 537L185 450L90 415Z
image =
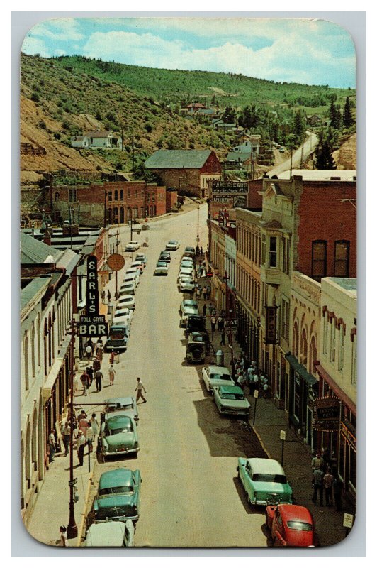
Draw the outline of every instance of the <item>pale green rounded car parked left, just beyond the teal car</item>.
M104 457L137 454L140 446L135 420L125 413L105 415L101 424L100 442Z

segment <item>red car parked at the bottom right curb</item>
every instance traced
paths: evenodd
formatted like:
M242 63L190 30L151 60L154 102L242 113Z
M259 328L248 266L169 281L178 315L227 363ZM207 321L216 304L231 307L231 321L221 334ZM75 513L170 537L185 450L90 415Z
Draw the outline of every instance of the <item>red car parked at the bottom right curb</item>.
M266 526L271 530L274 546L318 546L313 515L300 505L269 505Z

